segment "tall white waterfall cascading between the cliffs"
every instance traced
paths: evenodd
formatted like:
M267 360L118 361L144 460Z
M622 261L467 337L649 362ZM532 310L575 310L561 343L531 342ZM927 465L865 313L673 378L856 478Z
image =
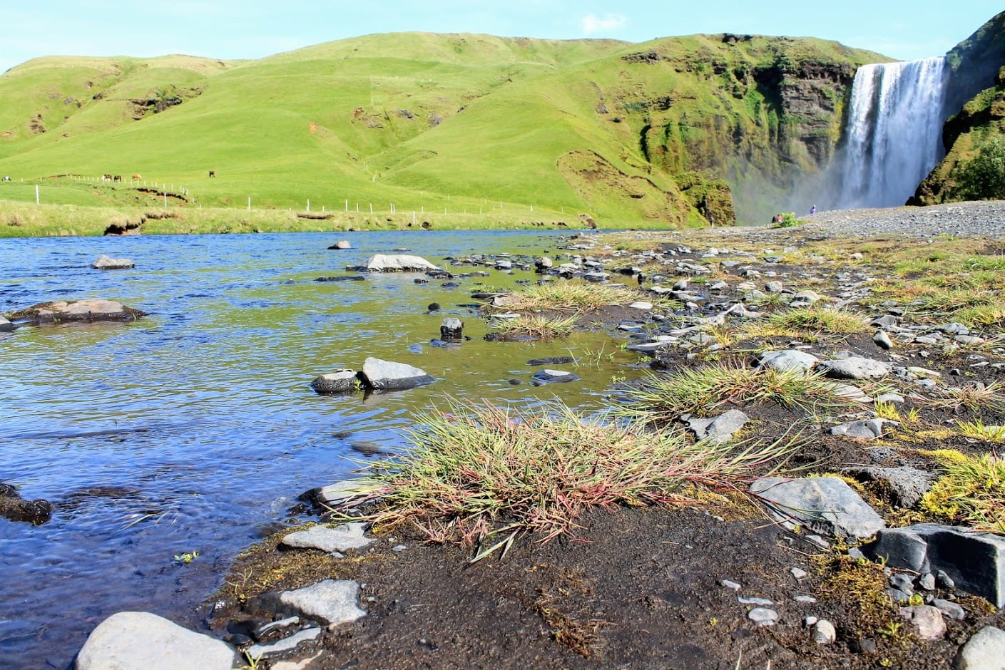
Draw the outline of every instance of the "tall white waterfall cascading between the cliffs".
M938 57L858 68L838 208L902 205L942 158L945 65Z

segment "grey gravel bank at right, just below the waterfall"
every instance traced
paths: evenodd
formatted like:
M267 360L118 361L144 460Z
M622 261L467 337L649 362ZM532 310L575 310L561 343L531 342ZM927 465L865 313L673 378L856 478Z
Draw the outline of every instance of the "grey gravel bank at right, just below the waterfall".
M803 230L835 235L1005 237L1005 201L817 212Z

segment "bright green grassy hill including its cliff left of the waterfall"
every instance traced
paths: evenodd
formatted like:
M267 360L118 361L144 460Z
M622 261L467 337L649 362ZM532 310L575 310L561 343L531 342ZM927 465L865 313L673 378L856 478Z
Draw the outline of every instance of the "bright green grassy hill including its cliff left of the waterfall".
M814 39L427 33L239 62L38 58L0 75L0 201L38 183L46 203L105 207L348 201L356 225L392 204L527 225L758 218L826 165L855 67L879 60Z

